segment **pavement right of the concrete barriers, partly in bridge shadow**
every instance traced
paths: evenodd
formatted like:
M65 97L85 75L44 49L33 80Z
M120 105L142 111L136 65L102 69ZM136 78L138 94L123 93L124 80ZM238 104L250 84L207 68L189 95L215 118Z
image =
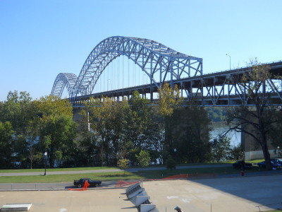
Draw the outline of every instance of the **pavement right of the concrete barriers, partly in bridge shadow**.
M282 208L282 176L229 177L143 182L161 212L254 212ZM278 204L276 204L278 203Z

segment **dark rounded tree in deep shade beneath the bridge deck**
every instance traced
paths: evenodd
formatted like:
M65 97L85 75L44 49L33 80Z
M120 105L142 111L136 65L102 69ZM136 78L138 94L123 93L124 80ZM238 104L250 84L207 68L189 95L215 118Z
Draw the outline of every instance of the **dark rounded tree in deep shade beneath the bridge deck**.
M172 155L178 163L202 163L209 161L209 117L207 111L197 105L178 109L173 114Z

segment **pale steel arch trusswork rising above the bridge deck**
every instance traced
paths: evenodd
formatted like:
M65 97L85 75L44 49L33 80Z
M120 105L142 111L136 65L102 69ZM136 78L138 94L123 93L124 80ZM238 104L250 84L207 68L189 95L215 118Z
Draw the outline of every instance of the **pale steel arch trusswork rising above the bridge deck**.
M61 98L66 87L71 102L80 95L90 95L111 61L121 55L140 66L150 83L158 88L165 82L202 75L202 58L191 57L162 45L154 40L137 37L108 37L94 47L82 66L79 76L59 73L54 81L51 95Z

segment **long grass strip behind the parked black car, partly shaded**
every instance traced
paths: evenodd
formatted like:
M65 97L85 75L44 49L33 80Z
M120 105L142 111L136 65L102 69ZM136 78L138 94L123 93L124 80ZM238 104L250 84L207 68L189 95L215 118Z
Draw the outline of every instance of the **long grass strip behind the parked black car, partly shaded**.
M112 167L111 167L112 168ZM108 169L108 167L97 167L97 169ZM91 168L74 168L74 169L54 169L55 171L60 170L93 170ZM251 170L246 170L248 172L260 172L265 169L259 167L252 167ZM15 170L16 171L16 170ZM20 172L20 170L17 170ZM43 171L42 169L39 170ZM238 174L240 170L233 169L230 167L206 167L206 168L193 168L193 169L176 169L176 170L146 170L140 172L98 172L98 173L82 173L82 174L66 174L66 175L30 175L30 176L7 176L0 177L0 183L39 183L39 182L73 182L74 179L80 179L82 177L89 177L92 179L105 180L123 180L123 179L162 179L165 177L171 177L173 175L189 174L193 177L201 175L228 175L228 174ZM37 170L38 172L38 170Z

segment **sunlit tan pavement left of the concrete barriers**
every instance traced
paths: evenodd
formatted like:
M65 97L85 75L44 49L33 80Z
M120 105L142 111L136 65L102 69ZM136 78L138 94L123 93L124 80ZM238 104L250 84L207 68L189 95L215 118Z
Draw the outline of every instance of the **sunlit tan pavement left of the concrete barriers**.
M137 212L126 199L125 189L92 189L87 191L0 192L0 205L32 203L30 212Z

